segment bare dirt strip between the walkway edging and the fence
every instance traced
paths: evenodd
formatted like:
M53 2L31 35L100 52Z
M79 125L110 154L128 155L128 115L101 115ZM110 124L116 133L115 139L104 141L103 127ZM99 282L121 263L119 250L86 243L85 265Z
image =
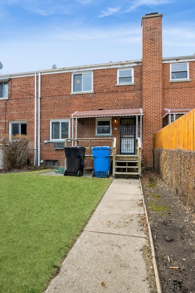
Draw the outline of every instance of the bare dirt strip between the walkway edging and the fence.
M142 175L163 293L195 293L195 215L155 172Z

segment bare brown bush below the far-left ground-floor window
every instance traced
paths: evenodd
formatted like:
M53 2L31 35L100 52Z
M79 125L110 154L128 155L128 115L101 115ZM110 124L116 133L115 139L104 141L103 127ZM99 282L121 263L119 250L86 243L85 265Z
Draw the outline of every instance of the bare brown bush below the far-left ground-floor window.
M13 135L2 137L3 167L6 171L27 165L28 137Z

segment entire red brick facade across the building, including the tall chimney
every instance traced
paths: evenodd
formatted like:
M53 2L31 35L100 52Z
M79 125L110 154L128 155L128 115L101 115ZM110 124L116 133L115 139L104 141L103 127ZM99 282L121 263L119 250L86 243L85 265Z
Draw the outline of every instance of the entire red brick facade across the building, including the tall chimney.
M53 143L44 143L50 139L51 119L70 119L76 110L143 108L143 157L145 166L151 168L153 135L162 128L162 109L195 107L195 61L189 62L191 81L170 83L170 64L162 63L162 15L144 16L142 34L142 65L134 67L134 85L116 86L117 68L102 67L93 71L93 93L71 94L71 72L41 75L41 159L64 164L64 151L54 150ZM9 99L0 100L0 133L9 132L9 121L27 121L31 148L34 148L34 79L34 75L11 78ZM117 153L119 123L119 118L117 122L112 118ZM94 137L95 118L79 119L77 127L78 137ZM72 136L72 129L70 133Z

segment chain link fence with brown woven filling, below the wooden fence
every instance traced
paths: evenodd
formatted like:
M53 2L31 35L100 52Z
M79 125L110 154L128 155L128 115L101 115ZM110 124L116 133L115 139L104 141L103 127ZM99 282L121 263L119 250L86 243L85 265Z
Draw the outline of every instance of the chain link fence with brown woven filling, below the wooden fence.
M195 151L154 149L153 168L195 210Z

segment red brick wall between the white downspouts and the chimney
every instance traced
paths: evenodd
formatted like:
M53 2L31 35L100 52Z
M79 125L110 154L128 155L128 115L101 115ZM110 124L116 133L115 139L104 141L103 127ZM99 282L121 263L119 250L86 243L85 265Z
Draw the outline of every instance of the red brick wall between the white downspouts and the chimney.
M141 66L134 67L135 85L116 86L117 68L93 71L93 93L70 94L71 73L41 76L41 159L55 159L64 162L63 150L54 150L49 140L50 119L69 119L71 114L80 110L123 109L141 107ZM112 134L119 140L119 119ZM70 121L72 136L72 119ZM94 137L95 118L82 119L77 123L78 137ZM119 143L119 142L118 142ZM118 144L119 145L119 144ZM117 147L119 153L119 147Z

